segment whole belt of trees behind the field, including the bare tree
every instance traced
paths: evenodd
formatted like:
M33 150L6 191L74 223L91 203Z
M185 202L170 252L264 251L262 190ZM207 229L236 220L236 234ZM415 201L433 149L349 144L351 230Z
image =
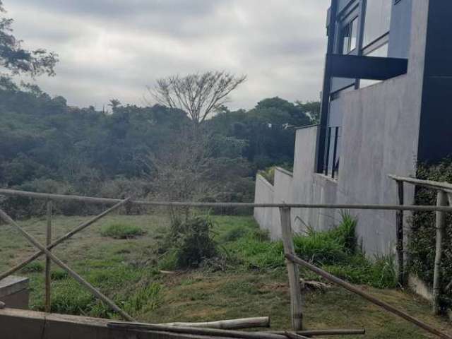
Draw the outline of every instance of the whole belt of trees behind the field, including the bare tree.
M6 11L0 0L0 14ZM110 101L108 112L71 107L19 73L54 76L58 56L25 49L13 20L0 18L0 187L58 194L251 201L254 174L291 163L294 127L312 124L319 102L268 98L230 111L227 95L246 80L224 71L170 76L149 88L158 105ZM1 203L1 197L0 197ZM16 215L37 213L8 199ZM88 208L84 208L89 212ZM66 204L61 213L82 213Z

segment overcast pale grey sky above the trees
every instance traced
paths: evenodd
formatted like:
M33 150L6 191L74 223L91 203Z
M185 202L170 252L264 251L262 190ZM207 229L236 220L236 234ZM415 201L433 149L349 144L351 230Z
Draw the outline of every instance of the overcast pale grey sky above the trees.
M69 105L144 105L156 78L246 74L232 108L265 97L318 100L327 0L4 0L24 47L59 54L37 83Z

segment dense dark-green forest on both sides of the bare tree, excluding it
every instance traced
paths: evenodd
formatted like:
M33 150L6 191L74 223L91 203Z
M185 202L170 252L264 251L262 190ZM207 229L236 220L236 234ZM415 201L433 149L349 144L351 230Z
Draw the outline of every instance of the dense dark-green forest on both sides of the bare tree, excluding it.
M302 104L266 99L248 112L222 107L204 130L211 136L213 157L243 158L251 177L257 169L292 160L291 126L310 124L307 113ZM146 159L174 143L189 124L185 112L161 105L112 100L111 112L69 107L64 97L3 77L0 183L20 187L52 179L70 183L78 193L98 194L97 184L88 189L86 183L152 174Z

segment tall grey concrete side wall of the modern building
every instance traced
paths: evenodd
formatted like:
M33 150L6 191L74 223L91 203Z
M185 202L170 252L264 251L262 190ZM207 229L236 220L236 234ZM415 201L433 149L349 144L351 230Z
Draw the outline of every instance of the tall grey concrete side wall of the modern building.
M408 73L344 93L335 100L336 109L343 112L338 180L314 173L318 127L297 131L293 203L397 203L396 184L388 174L415 175L429 1L412 0L411 5ZM278 182L275 191L279 191ZM405 197L405 203L412 203L411 186L406 187ZM293 210L294 230L303 231L307 225L326 230L337 223L338 213ZM369 256L393 253L395 212L362 210L352 214L359 220L357 235Z

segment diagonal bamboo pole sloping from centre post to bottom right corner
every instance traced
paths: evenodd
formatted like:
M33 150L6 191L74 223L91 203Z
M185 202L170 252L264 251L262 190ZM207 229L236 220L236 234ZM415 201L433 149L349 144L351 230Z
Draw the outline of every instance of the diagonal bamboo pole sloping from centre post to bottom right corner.
M345 290L348 290L352 293L355 293L356 295L359 295L360 297L363 297L367 301L371 302L372 304L376 304L379 307L382 307L383 309L386 309L386 311L391 312L392 314L396 314L396 316L400 316L400 318L405 319L406 321L410 321L410 323L414 323L416 326L424 329L425 331L432 333L434 335L437 335L439 338L443 339L452 339L451 335L448 335L444 332L441 332L439 329L434 328L427 323L424 323L423 321L420 321L419 319L416 319L414 316L410 316L410 314L405 313L404 311L400 311L400 309L396 309L396 307L391 306L390 304L381 301L380 299L377 299L376 297L369 295L369 293L364 292L363 290L351 285L350 283L347 283L346 281L335 277L334 275L326 272L325 270L322 270L321 268L318 268L317 266L312 265L311 263L308 263L307 261L304 261L301 258L298 258L297 256L292 255L286 255L286 258L288 258L290 261L297 263L297 265L303 266L304 268L307 268L314 273L317 273L321 277L325 278L328 281L331 281L332 283L335 283L336 285L339 285L340 287L344 287Z

